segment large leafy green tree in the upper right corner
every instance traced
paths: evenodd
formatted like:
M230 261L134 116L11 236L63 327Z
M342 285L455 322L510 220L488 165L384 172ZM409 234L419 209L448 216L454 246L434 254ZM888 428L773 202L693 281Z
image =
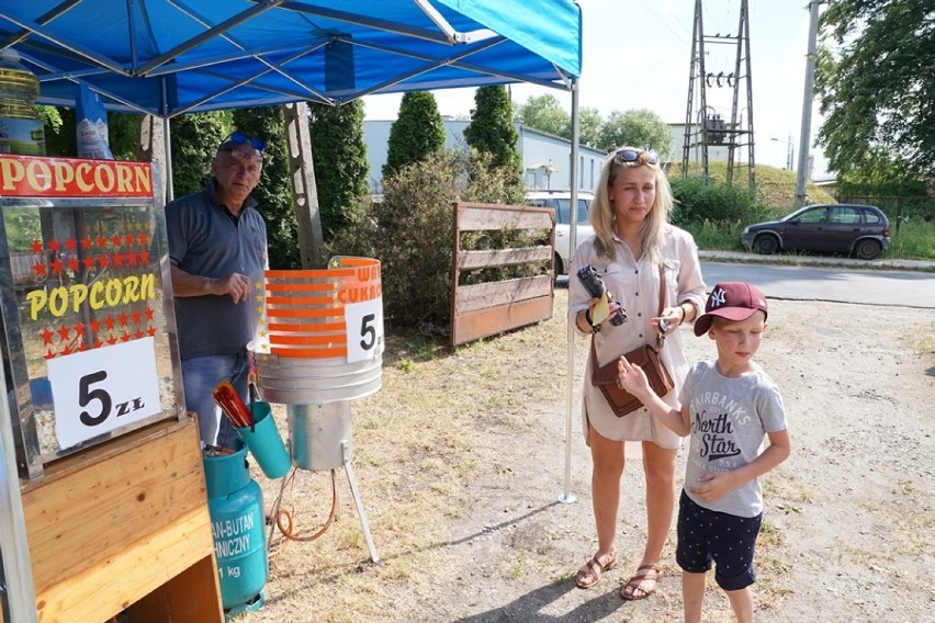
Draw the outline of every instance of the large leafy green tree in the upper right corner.
M846 174L877 160L935 177L935 20L931 0L837 0L820 18L818 143Z

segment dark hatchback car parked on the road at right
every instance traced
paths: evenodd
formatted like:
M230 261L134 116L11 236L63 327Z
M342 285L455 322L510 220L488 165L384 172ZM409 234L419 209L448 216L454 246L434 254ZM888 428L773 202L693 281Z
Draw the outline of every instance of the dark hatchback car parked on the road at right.
M807 205L779 220L745 227L741 242L764 256L799 250L872 260L890 246L890 222L874 205Z

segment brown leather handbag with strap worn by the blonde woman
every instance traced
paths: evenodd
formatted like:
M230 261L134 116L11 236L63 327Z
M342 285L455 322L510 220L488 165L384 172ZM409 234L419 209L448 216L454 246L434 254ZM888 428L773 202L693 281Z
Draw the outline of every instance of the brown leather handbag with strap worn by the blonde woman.
M665 308L665 269L660 264L660 313L662 316ZM639 365L646 373L646 378L650 381L650 387L653 388L658 396L668 394L675 384L672 382L668 371L665 369L660 359L656 349L649 344L643 344L624 354L627 361L633 365ZM639 398L622 389L618 384L617 362L619 358L615 358L610 362L598 367L597 353L594 350L594 338L590 340L590 363L592 373L590 382L593 385L600 388L607 403L618 418L622 418L632 414L643 406Z

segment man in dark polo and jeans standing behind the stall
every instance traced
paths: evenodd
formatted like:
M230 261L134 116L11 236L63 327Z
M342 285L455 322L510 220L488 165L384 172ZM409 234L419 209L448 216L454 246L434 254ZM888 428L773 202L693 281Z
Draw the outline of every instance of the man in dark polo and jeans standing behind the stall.
M259 320L251 301L269 267L267 226L250 196L263 148L235 132L218 145L207 186L166 206L185 407L196 414L202 445L234 448L238 437L214 401L217 383L247 395L246 346Z

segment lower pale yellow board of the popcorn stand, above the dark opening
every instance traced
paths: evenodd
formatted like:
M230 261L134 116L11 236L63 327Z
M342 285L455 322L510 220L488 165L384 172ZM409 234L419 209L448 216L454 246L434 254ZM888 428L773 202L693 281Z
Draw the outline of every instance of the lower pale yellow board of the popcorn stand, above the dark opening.
M174 585L173 578L194 567L194 575L201 580L194 581L192 576L188 579L199 588L200 594L191 594L192 590L187 592L194 600L191 607L199 616L170 618L164 613L159 618L158 607L145 602L142 605L156 611L151 612L150 621L221 622L224 613L213 551L207 507L190 510L146 537L125 543L115 555L98 560L42 593L37 591L40 621L108 621L159 587Z

